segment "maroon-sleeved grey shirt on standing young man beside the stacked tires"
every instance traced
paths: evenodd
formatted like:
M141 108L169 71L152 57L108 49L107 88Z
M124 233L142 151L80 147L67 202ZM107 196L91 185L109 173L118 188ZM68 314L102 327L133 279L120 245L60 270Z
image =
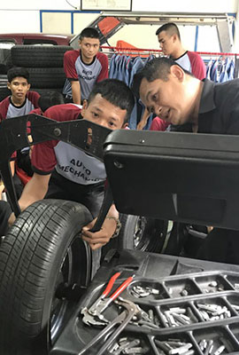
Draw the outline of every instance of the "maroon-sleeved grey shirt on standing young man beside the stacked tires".
M81 59L81 50L66 51L64 70L66 83L63 93L72 96L70 81L79 80L81 99L88 99L94 84L108 78L108 58L104 53L98 52L92 63L85 64Z

